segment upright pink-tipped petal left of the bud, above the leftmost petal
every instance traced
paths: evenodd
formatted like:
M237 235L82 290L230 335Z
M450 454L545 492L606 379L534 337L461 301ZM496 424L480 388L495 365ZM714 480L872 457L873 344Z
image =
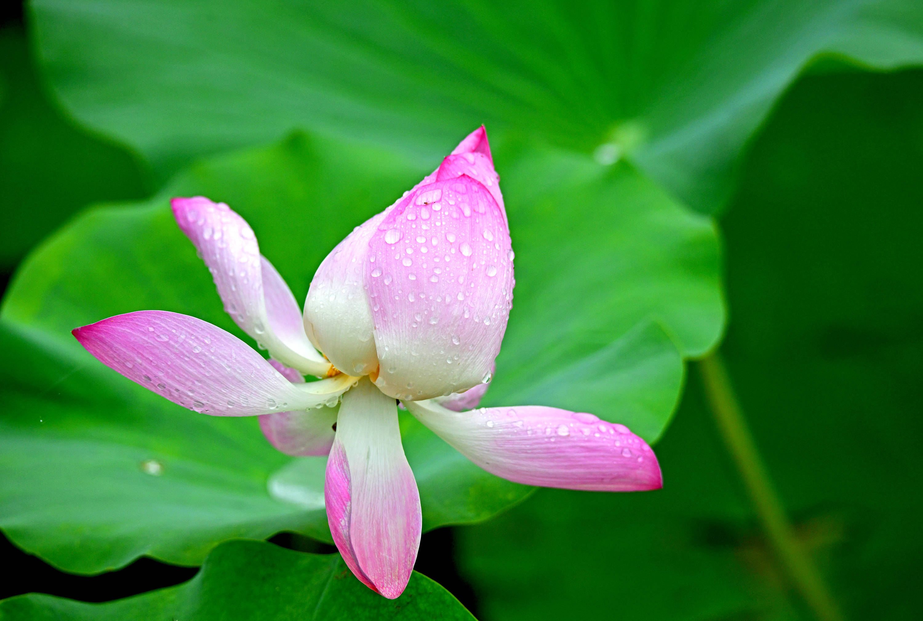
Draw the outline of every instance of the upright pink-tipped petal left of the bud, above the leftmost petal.
M294 295L260 256L246 221L224 203L205 197L174 198L172 206L176 223L198 249L224 310L237 325L282 363L326 376L330 364L307 340Z

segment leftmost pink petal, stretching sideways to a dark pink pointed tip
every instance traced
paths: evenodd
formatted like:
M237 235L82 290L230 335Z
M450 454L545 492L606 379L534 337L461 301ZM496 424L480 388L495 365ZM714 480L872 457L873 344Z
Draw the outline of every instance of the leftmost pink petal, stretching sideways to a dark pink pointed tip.
M138 311L73 330L111 369L195 412L253 416L336 400L355 377L294 385L243 340L196 317Z

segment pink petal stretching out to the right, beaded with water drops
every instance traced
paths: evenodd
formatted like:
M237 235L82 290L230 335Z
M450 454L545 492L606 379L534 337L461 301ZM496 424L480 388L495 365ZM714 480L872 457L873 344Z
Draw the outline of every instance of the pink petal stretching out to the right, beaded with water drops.
M405 401L439 437L487 472L516 483L600 492L663 486L653 450L623 424L527 405L452 412Z

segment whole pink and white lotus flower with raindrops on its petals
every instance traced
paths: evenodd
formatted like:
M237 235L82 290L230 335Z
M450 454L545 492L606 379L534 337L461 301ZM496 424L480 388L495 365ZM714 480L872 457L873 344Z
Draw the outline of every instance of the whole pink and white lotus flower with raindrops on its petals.
M330 531L370 589L399 596L420 543L420 496L396 400L510 481L600 491L661 486L653 451L622 424L540 405L462 411L477 406L491 379L514 284L484 127L333 249L304 315L227 205L174 198L173 210L225 310L271 360L221 328L163 311L110 317L74 336L103 364L190 410L258 415L282 452L329 454Z

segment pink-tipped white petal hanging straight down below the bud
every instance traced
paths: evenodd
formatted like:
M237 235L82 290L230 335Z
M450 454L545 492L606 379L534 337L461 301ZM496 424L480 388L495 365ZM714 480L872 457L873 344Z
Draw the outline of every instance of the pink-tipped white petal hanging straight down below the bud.
M365 377L343 397L324 497L346 565L370 589L398 597L414 569L423 514L397 405Z

